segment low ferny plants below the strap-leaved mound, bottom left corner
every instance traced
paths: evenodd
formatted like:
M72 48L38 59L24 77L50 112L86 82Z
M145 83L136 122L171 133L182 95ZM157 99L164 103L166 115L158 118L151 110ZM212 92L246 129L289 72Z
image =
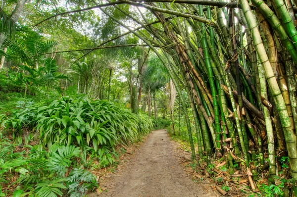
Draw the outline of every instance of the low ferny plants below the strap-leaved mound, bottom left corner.
M55 144L49 151L42 145L28 145L26 149L16 152L10 140L0 138L0 183L8 184L18 177L16 182L10 182L21 186L14 192L15 197L57 197L66 193L81 197L98 187L95 176L78 167L81 148Z

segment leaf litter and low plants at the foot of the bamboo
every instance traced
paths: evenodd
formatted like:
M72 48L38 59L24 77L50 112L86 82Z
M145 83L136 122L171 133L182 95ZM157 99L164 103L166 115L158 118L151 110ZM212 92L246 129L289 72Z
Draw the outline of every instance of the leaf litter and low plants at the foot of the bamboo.
M173 132L170 129L168 131L171 139L178 142L180 148L189 152L190 155L191 146L187 137L173 135ZM198 154L196 156L198 157ZM268 175L264 177L258 176L257 180L254 180L256 183L256 191L254 192L251 192L250 190L247 175L241 177L230 177L230 174L228 173L229 167L226 164L216 167L223 162L223 158L215 160L213 160L213 158L210 159L211 163L208 162L208 156L203 156L202 158L198 157L198 161L194 163L189 160L185 161L186 165L191 166L196 174L193 179L194 182L201 183L201 181L207 179L207 182L213 182L215 185L218 185L227 193L227 196L242 196L242 194L245 194L247 197L285 197L290 193L288 188L292 187L292 181L285 179L289 163L288 157L286 156L281 157L279 160L283 170L279 171L278 176L274 177L275 183L268 183ZM234 164L234 168L235 170L240 170L238 164Z

